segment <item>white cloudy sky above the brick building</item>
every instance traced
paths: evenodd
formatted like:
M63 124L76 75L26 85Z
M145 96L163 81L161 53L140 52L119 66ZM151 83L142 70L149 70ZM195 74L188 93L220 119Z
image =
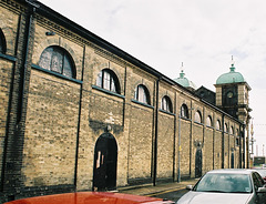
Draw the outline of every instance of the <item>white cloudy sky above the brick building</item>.
M171 79L184 62L186 78L215 91L236 71L252 88L254 153L266 145L265 0L40 0ZM258 151L256 151L258 150ZM266 155L266 146L265 153Z

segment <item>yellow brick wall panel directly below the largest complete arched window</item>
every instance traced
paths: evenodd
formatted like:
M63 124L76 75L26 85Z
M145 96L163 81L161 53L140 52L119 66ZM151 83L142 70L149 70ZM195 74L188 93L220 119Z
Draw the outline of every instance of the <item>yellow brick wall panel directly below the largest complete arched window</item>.
M73 183L80 85L32 70L23 167L27 186Z

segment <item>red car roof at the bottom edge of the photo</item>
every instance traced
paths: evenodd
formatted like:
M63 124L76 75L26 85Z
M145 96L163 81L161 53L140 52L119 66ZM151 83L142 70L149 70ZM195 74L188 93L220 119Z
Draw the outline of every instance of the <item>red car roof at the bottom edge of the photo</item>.
M11 201L4 204L174 204L157 197L109 192L79 192Z

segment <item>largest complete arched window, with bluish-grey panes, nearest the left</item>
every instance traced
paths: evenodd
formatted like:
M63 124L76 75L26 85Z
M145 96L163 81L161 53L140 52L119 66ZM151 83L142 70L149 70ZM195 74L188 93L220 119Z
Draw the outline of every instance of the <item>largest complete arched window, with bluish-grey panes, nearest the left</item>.
M39 65L68 78L75 78L73 60L69 52L60 47L47 48L41 54Z

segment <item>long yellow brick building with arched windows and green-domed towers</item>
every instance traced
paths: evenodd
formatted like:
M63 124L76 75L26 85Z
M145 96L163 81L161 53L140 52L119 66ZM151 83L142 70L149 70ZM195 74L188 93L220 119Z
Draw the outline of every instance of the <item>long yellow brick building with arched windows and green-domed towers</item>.
M0 0L0 202L246 167L241 76L194 90L38 1Z

